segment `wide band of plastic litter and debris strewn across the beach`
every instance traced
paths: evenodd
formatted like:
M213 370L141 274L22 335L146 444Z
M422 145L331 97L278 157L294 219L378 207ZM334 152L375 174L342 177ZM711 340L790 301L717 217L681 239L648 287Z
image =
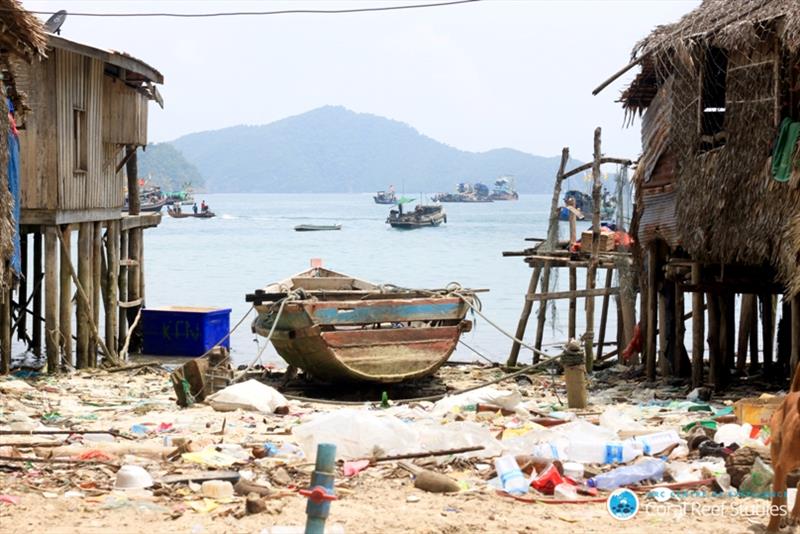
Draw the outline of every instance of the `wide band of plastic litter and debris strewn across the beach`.
M532 376L436 402L341 407L250 380L181 409L166 372L137 372L0 379L0 510L37 495L98 513L280 515L304 502L320 443L336 446L342 500L374 479L397 481L409 503L430 492L517 506L589 506L623 486L759 498L772 480L764 422L780 397L666 399L619 381L568 410L557 377ZM441 374L463 386L497 372Z

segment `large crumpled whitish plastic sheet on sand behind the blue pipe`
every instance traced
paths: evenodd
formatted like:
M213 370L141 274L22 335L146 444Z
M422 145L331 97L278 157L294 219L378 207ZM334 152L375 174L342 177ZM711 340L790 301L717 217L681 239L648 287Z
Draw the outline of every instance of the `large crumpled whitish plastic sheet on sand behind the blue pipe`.
M406 423L368 410L344 409L320 413L297 425L292 434L309 461L314 461L318 443L336 445L336 455L344 459L407 454L483 445L473 456L493 456L502 451L486 428L476 423Z

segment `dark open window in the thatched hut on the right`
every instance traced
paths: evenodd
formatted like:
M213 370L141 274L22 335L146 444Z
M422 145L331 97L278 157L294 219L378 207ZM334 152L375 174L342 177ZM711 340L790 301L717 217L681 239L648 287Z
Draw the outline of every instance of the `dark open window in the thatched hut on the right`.
M711 150L725 144L725 84L728 53L709 47L700 88L700 147Z

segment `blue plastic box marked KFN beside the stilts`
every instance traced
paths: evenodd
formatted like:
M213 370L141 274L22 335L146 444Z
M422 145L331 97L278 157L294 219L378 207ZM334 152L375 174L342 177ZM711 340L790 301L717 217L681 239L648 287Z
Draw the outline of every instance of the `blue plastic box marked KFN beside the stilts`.
M230 308L145 308L142 350L159 356L202 356L228 335L230 324ZM230 348L230 339L226 338L221 346Z

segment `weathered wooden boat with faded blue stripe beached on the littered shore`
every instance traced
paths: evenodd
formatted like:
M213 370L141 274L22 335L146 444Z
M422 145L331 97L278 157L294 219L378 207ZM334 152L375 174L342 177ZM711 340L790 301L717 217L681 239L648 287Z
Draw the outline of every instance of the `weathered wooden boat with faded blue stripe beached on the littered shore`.
M286 362L323 382L394 383L429 376L447 361L475 291L380 286L322 267L246 296Z

